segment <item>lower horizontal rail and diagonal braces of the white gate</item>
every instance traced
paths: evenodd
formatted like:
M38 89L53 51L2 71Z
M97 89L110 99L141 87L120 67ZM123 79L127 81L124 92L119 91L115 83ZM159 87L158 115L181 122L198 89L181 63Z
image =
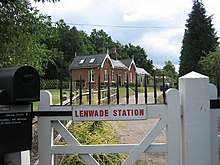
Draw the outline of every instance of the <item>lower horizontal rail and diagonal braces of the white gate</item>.
M128 153L128 158L123 164L130 164L134 162L142 153L148 151L148 148L157 147L157 152L165 152L166 144L152 145L151 142L157 137L157 135L163 130L166 125L166 119L161 118L157 125L152 128L147 136L139 144L117 144L117 145L81 145L77 139L66 129L66 127L60 121L53 121L52 126L62 135L62 137L69 143L65 145L53 145L53 154L79 154L88 164L96 160L91 156L92 153ZM98 164L98 163L97 163Z

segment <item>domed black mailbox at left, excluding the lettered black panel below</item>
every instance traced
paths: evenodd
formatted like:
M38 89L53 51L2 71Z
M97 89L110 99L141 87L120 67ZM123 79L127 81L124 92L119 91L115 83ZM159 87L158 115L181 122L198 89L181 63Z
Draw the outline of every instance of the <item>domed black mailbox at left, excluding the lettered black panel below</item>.
M40 78L31 66L0 68L0 104L23 104L40 99Z

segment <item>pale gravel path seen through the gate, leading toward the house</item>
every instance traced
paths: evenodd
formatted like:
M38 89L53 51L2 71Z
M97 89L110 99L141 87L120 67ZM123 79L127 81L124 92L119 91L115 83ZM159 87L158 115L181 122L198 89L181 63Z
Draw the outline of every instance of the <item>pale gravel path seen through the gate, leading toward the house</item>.
M160 95L160 93L158 93ZM120 103L125 103L126 100L120 100ZM129 100L130 104L135 103L135 97L131 96ZM144 103L144 94L139 94L138 103ZM148 103L154 103L153 93L148 94ZM158 119L148 119L139 121L113 121L112 126L117 132L117 138L121 144L138 144L143 138L150 132L150 130L157 124ZM154 142L164 143L165 141L165 130L162 131ZM139 158L139 164L155 164L165 165L165 154L164 153L143 153Z

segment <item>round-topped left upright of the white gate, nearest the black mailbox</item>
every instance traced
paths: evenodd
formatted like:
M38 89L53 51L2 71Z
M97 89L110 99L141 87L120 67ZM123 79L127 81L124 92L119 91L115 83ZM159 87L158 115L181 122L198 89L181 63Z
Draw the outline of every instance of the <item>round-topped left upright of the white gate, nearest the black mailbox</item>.
M38 110L49 111L52 105L52 96L48 91L41 91ZM38 117L38 149L39 165L53 165L54 156L51 152L53 145L53 129L48 117Z

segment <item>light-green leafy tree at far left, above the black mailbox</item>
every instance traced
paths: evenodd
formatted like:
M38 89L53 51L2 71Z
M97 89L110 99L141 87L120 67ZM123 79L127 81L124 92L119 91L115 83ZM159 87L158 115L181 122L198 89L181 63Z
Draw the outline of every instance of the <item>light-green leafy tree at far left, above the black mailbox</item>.
M0 4L0 67L31 65L41 74L53 52L42 41L51 36L51 19L29 1Z

